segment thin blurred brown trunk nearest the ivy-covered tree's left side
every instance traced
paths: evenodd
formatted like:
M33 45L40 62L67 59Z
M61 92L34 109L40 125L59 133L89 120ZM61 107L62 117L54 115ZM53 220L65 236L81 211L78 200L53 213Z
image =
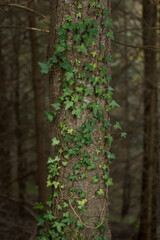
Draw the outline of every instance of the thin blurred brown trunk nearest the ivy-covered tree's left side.
M34 1L28 2L28 7L35 9ZM35 27L35 15L29 13L29 26ZM44 135L44 94L41 84L40 71L38 67L39 47L36 32L30 31L31 54L32 54L32 81L35 99L35 128L37 143L37 167L38 167L38 185L39 201L45 202L47 199L46 190L46 156L45 156L45 135Z

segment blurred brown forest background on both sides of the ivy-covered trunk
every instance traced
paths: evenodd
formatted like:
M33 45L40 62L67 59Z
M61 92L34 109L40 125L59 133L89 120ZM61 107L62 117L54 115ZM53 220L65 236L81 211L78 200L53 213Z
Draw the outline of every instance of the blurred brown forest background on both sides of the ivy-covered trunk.
M33 207L47 196L49 124L44 111L49 108L49 84L37 62L47 59L49 15L49 1L0 0L1 240L34 239ZM126 140L117 137L112 147L116 155L111 168L114 186L109 193L112 239L138 239L150 210L144 205L152 195L151 227L157 233L148 240L158 240L160 6L156 0L112 0L112 19L112 85L121 107L111 118L128 133ZM147 154L151 154L151 163ZM147 184L151 184L150 192L145 192Z

